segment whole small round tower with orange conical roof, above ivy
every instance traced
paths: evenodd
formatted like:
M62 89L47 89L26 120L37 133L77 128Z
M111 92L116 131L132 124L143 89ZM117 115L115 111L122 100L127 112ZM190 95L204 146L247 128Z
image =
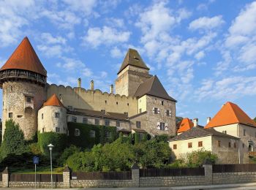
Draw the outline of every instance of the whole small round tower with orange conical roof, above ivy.
M38 111L38 131L67 134L67 110L56 94Z

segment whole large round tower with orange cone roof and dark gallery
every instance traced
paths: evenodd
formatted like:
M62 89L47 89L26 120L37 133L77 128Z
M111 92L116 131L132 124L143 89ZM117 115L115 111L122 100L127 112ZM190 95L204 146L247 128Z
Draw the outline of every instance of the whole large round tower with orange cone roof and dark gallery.
M37 112L46 98L47 72L29 39L25 37L0 69L3 89L3 130L5 121L19 123L26 140L37 132Z

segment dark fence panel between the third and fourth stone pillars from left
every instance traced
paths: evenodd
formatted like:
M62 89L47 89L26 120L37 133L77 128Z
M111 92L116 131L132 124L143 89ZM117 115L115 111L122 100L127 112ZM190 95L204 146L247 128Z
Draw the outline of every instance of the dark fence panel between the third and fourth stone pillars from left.
M140 169L140 177L205 175L203 167Z

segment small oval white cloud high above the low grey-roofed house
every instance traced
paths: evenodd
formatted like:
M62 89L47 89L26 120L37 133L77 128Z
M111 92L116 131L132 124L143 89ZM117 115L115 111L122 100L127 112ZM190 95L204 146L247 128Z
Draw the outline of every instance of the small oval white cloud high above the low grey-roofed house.
M221 26L225 21L222 19L222 16L215 16L212 18L208 17L202 17L197 18L196 20L193 20L191 23L189 23L189 29L190 30L211 30L213 28L217 28Z

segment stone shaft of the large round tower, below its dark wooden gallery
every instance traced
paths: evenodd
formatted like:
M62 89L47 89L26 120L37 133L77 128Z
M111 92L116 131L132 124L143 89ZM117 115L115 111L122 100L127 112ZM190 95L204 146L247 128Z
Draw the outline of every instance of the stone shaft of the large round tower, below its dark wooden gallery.
M32 107L26 107L26 96L32 96ZM5 121L12 113L12 119L19 123L27 140L37 132L37 111L45 102L45 87L25 81L5 82L3 84L3 136ZM26 108L25 108L26 107Z

